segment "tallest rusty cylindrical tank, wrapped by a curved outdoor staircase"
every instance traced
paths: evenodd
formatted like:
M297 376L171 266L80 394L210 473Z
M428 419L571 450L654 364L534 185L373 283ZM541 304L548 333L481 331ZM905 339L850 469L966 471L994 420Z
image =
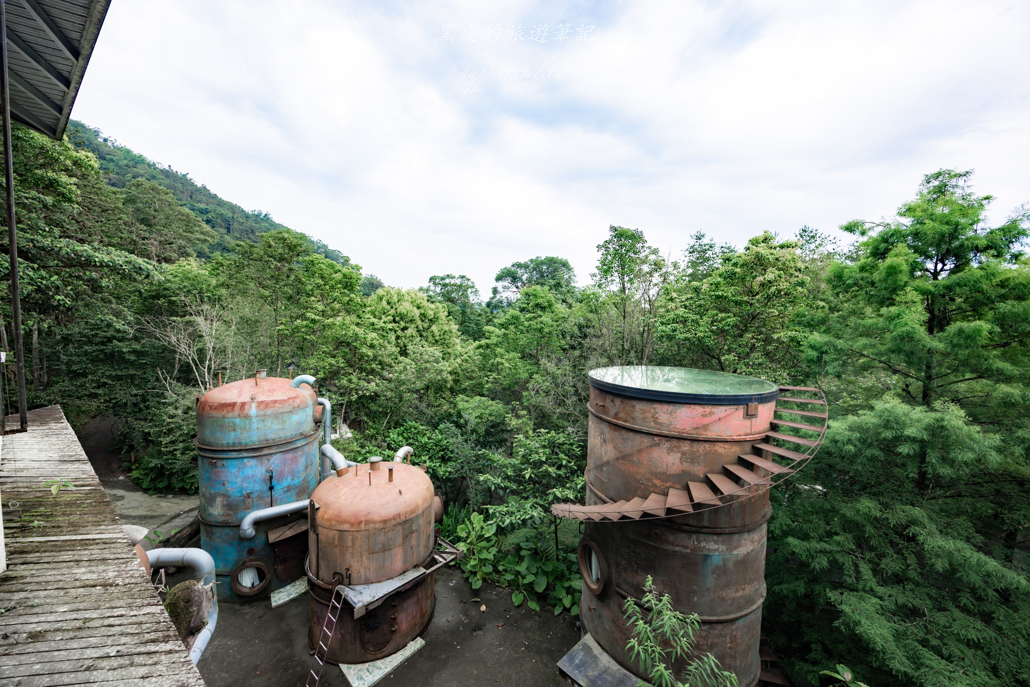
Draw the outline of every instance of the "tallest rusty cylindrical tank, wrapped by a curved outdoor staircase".
M700 616L695 651L713 654L741 687L751 687L761 667L768 492L750 487L757 493L718 496L748 486L727 466L739 466L770 430L779 387L643 366L593 370L589 382L588 506L687 490L690 482L717 499L674 518L588 521L579 555L584 628L623 667L647 678L625 651L631 634L623 605L644 594L650 575L678 611Z

